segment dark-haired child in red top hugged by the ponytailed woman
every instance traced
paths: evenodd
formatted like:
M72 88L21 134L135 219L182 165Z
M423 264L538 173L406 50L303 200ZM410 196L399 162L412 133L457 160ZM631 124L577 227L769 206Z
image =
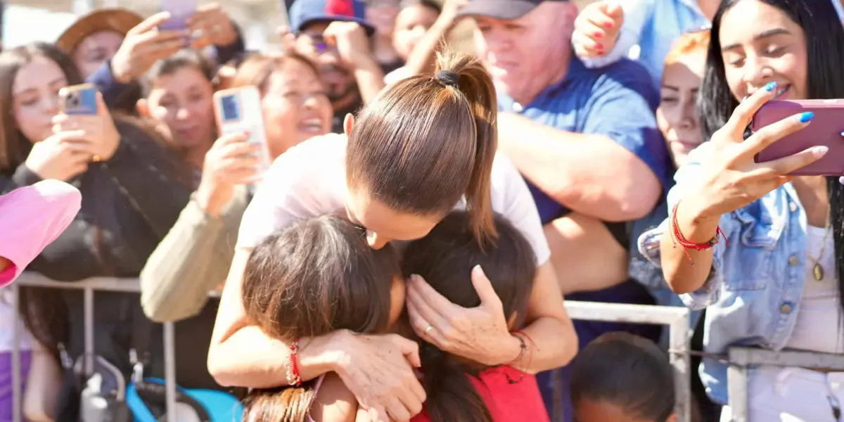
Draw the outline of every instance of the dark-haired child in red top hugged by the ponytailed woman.
M527 301L536 272L533 248L519 230L495 214L497 239L484 246L473 236L470 217L452 212L428 235L404 252L405 278L420 276L454 305L463 307L500 304L510 330L522 341L522 354L533 351L532 340L517 331L525 321ZM468 274L483 269L492 289L484 292ZM495 297L497 296L497 297ZM408 304L420 311L424 304ZM416 325L427 322L408 321ZM425 408L413 422L496 422L549 420L536 378L509 365L487 368L447 354L426 337L442 335L425 329L419 338ZM408 329L408 331L410 331ZM522 357L513 356L515 360ZM529 358L528 358L529 360Z

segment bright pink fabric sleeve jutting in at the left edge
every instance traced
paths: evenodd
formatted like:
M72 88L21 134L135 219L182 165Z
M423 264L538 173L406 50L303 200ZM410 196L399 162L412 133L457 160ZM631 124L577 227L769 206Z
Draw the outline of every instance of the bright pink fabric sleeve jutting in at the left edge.
M12 262L0 272L0 287L27 265L76 217L82 194L63 181L39 181L0 196L0 257Z

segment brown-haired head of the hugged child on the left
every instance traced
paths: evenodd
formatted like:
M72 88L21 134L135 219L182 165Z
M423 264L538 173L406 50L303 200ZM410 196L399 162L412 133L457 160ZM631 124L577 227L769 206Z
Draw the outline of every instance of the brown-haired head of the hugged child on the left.
M403 304L403 288L391 246L374 250L365 230L325 215L296 221L255 247L242 300L246 316L275 338L379 333L401 313L391 304Z

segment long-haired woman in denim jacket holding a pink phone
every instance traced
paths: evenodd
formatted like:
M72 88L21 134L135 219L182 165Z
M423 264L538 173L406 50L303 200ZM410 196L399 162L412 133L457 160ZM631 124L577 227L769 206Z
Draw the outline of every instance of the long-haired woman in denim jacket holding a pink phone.
M705 349L734 345L844 353L844 187L838 176L786 176L815 146L780 160L755 154L812 124L803 112L745 130L771 99L844 98L844 30L827 2L725 0L712 22L701 88L705 138L668 193L661 254L668 284L707 309ZM844 142L844 139L842 139ZM711 398L728 403L724 360L704 359ZM844 373L760 365L749 420L839 420ZM725 406L722 420L731 420Z

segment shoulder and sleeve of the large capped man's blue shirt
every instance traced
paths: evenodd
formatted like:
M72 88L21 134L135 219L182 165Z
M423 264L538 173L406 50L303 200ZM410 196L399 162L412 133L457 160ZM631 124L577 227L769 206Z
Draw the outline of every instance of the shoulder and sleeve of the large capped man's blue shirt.
M636 154L663 183L665 192L674 184L674 172L654 112L659 104L657 89L641 64L622 59L606 68L590 69L572 57L569 72L527 105L498 92L500 111L513 111L533 122L567 132L606 135ZM601 157L594 157L596 162ZM598 168L598 165L596 165ZM542 223L568 213L527 181Z

